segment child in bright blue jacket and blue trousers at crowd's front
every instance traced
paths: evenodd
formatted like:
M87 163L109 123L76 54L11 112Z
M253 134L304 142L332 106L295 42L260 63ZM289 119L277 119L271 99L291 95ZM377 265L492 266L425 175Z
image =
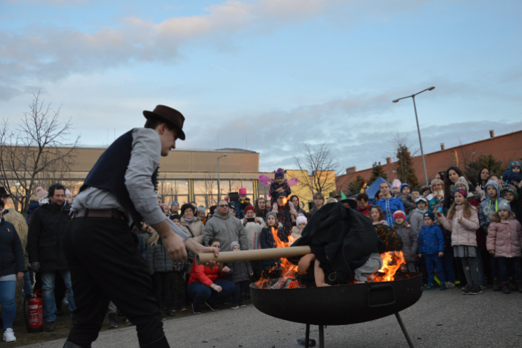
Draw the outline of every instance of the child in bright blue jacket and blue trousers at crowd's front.
M425 255L426 268L428 271L428 285L424 290L434 290L435 267L438 271L438 277L441 279L441 290L446 290L446 276L442 264L444 256L444 236L441 228L434 225L435 215L433 212L424 213L424 226L420 229L419 234L419 251L418 257Z

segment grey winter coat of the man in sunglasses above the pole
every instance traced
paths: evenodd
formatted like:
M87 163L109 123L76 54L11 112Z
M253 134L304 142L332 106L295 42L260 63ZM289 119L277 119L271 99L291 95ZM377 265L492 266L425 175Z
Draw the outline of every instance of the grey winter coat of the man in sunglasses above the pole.
M230 209L226 218L214 212L212 219L207 221L205 230L203 232L203 242L208 246L208 241L211 238L217 238L221 244L221 251L232 251L230 244L238 242L241 250L248 250L248 240L246 239L246 232L243 228L243 223L237 217L232 216Z

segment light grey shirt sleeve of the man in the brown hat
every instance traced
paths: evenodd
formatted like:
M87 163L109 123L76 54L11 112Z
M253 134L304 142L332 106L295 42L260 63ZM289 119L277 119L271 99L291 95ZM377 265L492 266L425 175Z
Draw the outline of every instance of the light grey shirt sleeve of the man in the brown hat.
M129 167L125 172L125 187L136 210L150 225L169 222L173 231L184 240L187 233L167 219L157 203L157 194L152 184L152 174L156 171L161 159L161 141L154 129L136 128L132 132L132 152ZM141 221L134 221L139 223Z

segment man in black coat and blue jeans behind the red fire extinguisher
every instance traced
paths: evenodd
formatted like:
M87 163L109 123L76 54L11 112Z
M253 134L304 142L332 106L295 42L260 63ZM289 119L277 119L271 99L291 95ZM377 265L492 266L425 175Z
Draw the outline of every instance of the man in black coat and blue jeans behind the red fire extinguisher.
M56 271L60 271L68 290L69 309L76 309L72 297L70 271L65 259L63 237L70 221L70 205L65 202L65 187L53 184L49 187L49 201L35 209L29 225L27 253L31 269L41 272L43 288L43 315L45 331L54 331L56 302L54 285Z

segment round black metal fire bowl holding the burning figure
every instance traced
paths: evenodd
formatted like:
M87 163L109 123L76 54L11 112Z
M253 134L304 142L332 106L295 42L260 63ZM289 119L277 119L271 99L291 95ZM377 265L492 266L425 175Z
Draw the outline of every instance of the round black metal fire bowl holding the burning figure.
M251 300L262 313L302 324L348 325L370 322L413 306L422 296L422 274L399 273L394 281L260 289L251 283Z

